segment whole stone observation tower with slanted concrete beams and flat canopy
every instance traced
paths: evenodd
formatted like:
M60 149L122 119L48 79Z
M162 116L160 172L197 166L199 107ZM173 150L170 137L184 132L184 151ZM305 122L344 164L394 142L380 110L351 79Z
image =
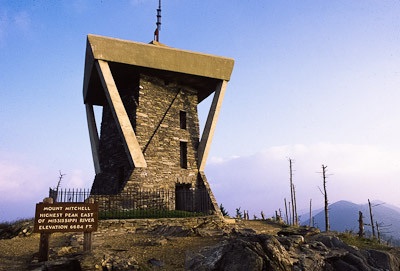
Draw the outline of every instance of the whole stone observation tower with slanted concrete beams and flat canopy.
M204 167L233 63L157 41L88 35L83 100L96 172L92 193L203 189L218 211ZM213 93L200 138L197 104ZM103 108L100 136L93 105Z

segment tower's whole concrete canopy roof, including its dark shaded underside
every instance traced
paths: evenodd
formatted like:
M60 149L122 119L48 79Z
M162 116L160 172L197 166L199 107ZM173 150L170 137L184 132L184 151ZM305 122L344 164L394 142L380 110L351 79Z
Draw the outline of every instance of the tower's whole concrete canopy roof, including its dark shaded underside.
M232 58L88 35L83 98L85 103L95 105L104 102L96 60L126 64L137 72L197 89L199 103L215 91L221 80L229 81L234 64Z

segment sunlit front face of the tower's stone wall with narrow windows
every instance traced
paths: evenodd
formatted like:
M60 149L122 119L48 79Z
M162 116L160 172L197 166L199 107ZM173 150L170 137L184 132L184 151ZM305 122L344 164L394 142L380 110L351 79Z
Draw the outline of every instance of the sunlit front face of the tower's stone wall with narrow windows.
M186 129L180 128L180 111L186 112ZM177 183L194 188L199 145L197 92L141 74L136 116L136 136L147 168L136 168L125 189L174 189ZM181 141L187 142L187 168L180 165Z

